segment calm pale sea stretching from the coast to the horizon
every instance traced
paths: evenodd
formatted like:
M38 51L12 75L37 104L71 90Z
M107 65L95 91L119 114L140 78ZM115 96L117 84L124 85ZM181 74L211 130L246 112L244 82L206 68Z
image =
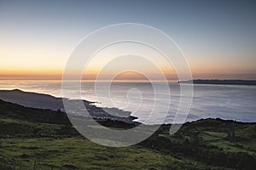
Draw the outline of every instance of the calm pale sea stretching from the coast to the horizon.
M107 82L100 82L102 86ZM157 86L162 86L157 82ZM0 89L19 88L24 91L51 94L62 97L61 81L0 81ZM110 93L96 90L94 82L82 82L82 99L99 102L102 107L116 107L131 111L138 117L138 122L145 122L148 114L154 110L156 116L149 123L159 123L166 116L166 123L172 122L179 103L179 85L170 82L171 103L166 94L154 91L149 82L113 82ZM161 88L160 88L161 89ZM68 97L74 98L74 91L69 90ZM194 85L194 98L187 122L207 117L220 117L241 122L256 122L256 86L240 85Z

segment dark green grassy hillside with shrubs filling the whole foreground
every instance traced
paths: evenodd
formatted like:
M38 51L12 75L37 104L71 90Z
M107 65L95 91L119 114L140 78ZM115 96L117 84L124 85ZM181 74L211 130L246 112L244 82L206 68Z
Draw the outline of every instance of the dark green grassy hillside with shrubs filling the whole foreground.
M113 128L125 122L98 120ZM97 128L97 127L91 127ZM0 100L0 169L254 169L256 123L205 119L174 135L162 125L140 144L111 148L84 139L61 111Z

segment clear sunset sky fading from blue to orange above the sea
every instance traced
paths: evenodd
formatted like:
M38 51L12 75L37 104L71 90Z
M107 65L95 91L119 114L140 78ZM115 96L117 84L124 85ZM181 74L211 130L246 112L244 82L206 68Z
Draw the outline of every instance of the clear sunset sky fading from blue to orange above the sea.
M253 0L0 0L0 79L60 79L84 37L119 23L153 26L172 37L194 78L256 79ZM109 50L102 57L108 59ZM123 65L127 62L134 63L130 59ZM96 77L99 63L95 60L85 78ZM163 69L166 75L175 75L171 67ZM113 68L103 74L113 73ZM147 74L153 72L148 67Z

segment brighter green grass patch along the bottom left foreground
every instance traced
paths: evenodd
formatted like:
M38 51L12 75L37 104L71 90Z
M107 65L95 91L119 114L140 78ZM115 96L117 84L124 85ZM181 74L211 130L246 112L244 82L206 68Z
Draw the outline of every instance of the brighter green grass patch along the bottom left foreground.
M9 159L22 161L23 167L47 169L72 165L80 169L163 169L170 164L182 166L183 161L143 147L110 148L87 139L1 139L0 153ZM22 156L25 158L22 158ZM44 167L43 167L44 165Z

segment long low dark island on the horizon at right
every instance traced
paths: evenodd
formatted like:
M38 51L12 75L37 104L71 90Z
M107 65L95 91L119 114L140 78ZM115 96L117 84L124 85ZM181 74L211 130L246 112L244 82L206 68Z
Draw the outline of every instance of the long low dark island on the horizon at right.
M225 85L256 85L256 80L205 80L196 79L188 81L180 81L178 83L194 83L194 84L225 84Z

